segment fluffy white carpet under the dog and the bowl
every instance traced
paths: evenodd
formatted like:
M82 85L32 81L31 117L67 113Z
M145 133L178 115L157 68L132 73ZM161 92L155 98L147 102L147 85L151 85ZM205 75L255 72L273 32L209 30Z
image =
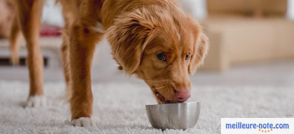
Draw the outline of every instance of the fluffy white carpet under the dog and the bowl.
M93 84L94 117L97 127L65 125L68 106L58 97L64 84L46 83L49 106L24 108L28 84L0 81L0 134L215 134L221 117L294 117L293 88L197 87L189 101L201 101L196 127L188 130L156 130L145 112L155 99L147 86L131 83Z

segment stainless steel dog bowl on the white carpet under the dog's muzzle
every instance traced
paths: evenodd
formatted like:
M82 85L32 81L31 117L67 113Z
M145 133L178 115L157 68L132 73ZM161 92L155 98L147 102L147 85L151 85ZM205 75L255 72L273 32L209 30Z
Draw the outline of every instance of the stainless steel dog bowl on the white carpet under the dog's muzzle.
M146 105L147 116L153 128L193 128L200 115L200 102Z

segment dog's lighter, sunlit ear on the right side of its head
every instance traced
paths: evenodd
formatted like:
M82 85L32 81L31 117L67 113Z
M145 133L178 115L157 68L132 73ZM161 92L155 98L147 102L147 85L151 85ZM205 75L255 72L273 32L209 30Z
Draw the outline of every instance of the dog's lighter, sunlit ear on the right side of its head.
M196 43L194 44L193 48L194 52L188 67L189 74L191 75L193 75L198 67L203 63L209 46L209 40L202 31L199 31L196 36L198 37L196 37Z

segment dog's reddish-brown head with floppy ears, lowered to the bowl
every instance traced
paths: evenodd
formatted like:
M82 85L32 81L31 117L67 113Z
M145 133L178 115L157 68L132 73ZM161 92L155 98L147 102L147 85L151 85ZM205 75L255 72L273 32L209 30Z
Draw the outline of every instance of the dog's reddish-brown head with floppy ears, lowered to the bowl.
M140 8L121 15L107 31L114 59L150 87L158 103L190 97L189 74L203 62L208 38L181 11Z

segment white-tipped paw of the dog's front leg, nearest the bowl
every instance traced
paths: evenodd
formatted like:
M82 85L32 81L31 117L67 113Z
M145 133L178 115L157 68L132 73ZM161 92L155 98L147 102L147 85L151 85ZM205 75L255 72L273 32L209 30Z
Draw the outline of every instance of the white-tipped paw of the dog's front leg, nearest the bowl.
M70 125L73 125L75 127L95 127L96 126L92 118L89 118L89 117L80 117L78 119L73 119L70 122Z

